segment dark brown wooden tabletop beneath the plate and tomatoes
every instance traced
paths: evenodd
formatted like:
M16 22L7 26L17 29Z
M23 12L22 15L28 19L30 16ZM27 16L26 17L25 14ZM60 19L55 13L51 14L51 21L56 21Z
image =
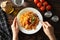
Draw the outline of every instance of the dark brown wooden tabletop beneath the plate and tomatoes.
M47 1L49 4L52 5L53 16L57 15L60 18L60 0L47 0ZM33 7L33 8L38 9L37 6L34 4L33 0L25 0L25 2L28 3L28 6L26 6L26 7ZM19 8L16 7L15 10L19 11L25 7L22 6ZM46 18L44 16L44 12L43 13L41 12L41 14L43 15L44 21L48 21L54 27L54 32L55 32L56 38L58 40L60 40L60 21L54 23L53 21L51 21L51 18ZM7 16L8 26L11 26L12 21L16 15L11 14L11 15L6 15L6 16ZM48 37L44 34L42 28L39 32L37 32L36 34L33 34L33 35L26 35L26 34L23 34L22 32L19 32L19 39L20 40L49 40Z

